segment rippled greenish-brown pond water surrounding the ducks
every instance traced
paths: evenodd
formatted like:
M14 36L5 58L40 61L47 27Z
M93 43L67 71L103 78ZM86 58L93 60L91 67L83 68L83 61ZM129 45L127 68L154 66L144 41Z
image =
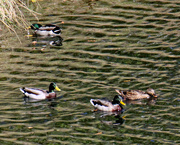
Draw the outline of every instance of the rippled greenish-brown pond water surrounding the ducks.
M40 22L61 26L63 45L2 34L0 143L179 144L180 2L39 3ZM58 99L24 102L19 87L50 82ZM112 99L117 88L153 88L159 97L130 102L123 114L93 112L89 100Z

